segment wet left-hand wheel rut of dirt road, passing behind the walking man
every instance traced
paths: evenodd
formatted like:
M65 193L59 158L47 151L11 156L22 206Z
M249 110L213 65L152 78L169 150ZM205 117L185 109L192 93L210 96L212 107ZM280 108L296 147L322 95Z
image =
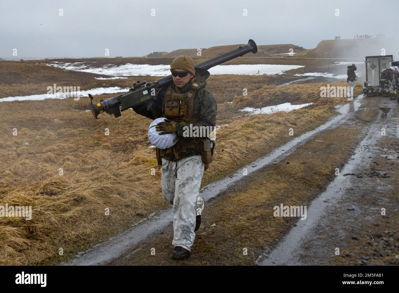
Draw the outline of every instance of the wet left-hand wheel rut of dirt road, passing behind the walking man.
M356 100L363 97L363 94L358 96ZM296 148L304 144L309 138L326 130L328 128L338 127L340 124L344 123L351 115L346 115L356 111L359 108L360 103L356 102L356 105L351 106L354 101L345 104L340 109L341 115L334 116L330 118L326 123L319 126L318 128L306 132L292 140L290 142L280 146L279 148L271 151L269 155L257 159L256 161L250 163L249 165L243 167L239 171L235 172L233 175L227 176L225 179L211 183L200 190L200 196L203 197L204 201L217 196L221 191L225 190L231 184L235 183L241 179L243 175L244 168L247 170L247 174L257 171L268 164L277 163L284 157L290 155ZM357 105L359 104L359 105ZM352 111L352 108L354 109ZM347 110L344 110L347 109ZM79 258L75 258L68 263L62 263L61 265L104 265L111 262L111 260L118 258L123 252L125 252L130 247L137 245L143 241L146 237L151 234L160 233L168 224L172 222L173 214L172 208L162 210L159 214L152 216L150 219L146 219L132 228L125 230L121 234L110 238L106 242L97 244L95 249L91 250L87 254L83 254ZM303 222L303 221L302 221Z

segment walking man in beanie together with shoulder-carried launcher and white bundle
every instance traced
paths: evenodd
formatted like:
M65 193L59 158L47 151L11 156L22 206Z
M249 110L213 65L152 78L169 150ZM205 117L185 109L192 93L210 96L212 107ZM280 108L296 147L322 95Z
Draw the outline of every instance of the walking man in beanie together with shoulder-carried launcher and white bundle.
M130 108L154 119L154 125L148 129L148 138L156 146L158 165L162 165L163 197L173 205L173 258L189 255L194 232L201 224L204 201L199 197L199 187L215 148L212 134L207 132L203 136L200 132L198 137L197 132L190 131L187 135L185 128L214 130L217 106L212 93L205 88L209 77L207 69L249 52L257 53L257 45L252 39L246 45L196 66L191 57L181 55L173 60L170 76L150 83L137 81L128 92L95 103L89 94L89 107L96 119L101 113L119 117L122 111ZM154 129L158 135L154 135Z

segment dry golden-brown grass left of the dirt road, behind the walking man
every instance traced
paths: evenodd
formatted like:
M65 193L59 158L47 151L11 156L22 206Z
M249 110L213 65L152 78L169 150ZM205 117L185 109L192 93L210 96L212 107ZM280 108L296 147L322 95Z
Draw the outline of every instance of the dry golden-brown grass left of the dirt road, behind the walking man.
M320 86L295 87L309 95L308 100L301 96L301 102L309 102ZM284 88L287 94L289 88ZM265 97L273 99L267 93ZM150 175L157 167L146 136L150 120L131 110L118 119L103 115L98 120L91 113L72 111L87 108L87 101L1 103L0 205L32 205L33 212L30 221L0 219L1 264L57 263L128 228L141 218L137 212L148 215L168 206L162 199L160 171ZM332 115L334 103L322 100L289 113L223 120L203 185L290 140L289 128L297 136L318 126ZM18 136L12 135L13 128ZM104 135L105 128L110 136ZM109 216L105 208L110 208ZM61 247L63 257L58 255Z

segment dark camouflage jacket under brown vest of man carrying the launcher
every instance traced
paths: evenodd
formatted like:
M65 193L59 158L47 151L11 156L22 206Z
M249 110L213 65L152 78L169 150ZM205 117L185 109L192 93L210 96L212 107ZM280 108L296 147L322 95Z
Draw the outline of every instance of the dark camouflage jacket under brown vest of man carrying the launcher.
M196 74L195 74L195 81L203 82L209 77L209 72L205 69L197 68L196 67ZM174 83L172 83L172 88L176 89L179 92L189 92L191 88L191 83L188 82L182 88L177 87ZM147 110L147 104L141 104L136 107L133 107L133 110L142 116L150 118L152 120L160 117L164 117L164 98L166 94L167 87L161 88L156 94L156 100L152 104L151 108ZM215 98L213 98L213 94L211 91L206 88L202 87L194 96L194 116L193 118L199 118L199 122L192 123L192 126L216 126L216 111L217 111L217 104L215 102ZM183 126L180 123L177 123L177 136L180 140L190 140L192 138L185 138L183 137L183 127L184 122L182 122ZM189 124L187 124L188 126ZM171 148L168 149L161 149L160 156L169 160L169 161L178 161L185 157L190 157L192 155L200 155L200 151L198 148L189 148L184 151L184 153L178 152L178 158L174 155Z

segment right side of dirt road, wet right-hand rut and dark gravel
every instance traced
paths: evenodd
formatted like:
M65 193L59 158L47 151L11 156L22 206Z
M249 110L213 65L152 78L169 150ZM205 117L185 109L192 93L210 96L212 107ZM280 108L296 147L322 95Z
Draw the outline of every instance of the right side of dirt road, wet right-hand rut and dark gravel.
M399 264L395 257L399 252L395 230L399 224L399 119L390 101L373 102L379 114L363 129L365 138L342 170L343 176L312 202L312 216L298 221L270 255L262 256L260 264Z

